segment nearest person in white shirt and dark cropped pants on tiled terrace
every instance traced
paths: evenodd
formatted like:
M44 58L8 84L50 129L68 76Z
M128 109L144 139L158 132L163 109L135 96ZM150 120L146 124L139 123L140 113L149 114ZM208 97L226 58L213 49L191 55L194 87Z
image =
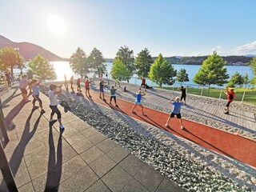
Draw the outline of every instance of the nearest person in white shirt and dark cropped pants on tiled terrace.
M57 99L57 94L62 93L62 85L57 86L55 84L50 84L50 90L48 91L48 96L50 99L50 109L51 109L51 114L50 114L50 122L57 122L56 119L54 119L54 114L57 114L58 122L59 122L59 128L62 130L64 129L64 126L62 125L62 114L58 110L58 99Z

